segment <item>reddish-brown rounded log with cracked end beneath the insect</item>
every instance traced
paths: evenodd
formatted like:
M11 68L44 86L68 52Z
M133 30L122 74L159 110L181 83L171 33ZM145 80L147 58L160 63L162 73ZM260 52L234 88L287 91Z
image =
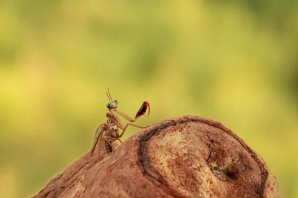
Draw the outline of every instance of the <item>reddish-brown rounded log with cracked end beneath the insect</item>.
M33 198L278 198L264 160L221 123L165 120L114 153L86 153Z

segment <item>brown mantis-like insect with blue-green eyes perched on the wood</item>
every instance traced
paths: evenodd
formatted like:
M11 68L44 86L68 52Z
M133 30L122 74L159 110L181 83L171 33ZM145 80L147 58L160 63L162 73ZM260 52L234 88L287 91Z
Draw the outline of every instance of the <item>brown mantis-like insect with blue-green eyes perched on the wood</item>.
M149 116L149 113L150 113L149 102L145 101L145 102L143 102L141 108L137 112L135 119L132 119L117 109L118 101L112 99L109 88L108 88L108 92L109 92L109 94L106 92L106 94L109 98L109 101L110 101L110 103L107 104L107 108L110 111L110 113L106 114L108 120L105 123L101 124L95 131L93 145L92 145L92 149L90 151L90 156L91 156L95 150L96 145L98 144L99 149L98 149L97 163L99 162L101 142L104 142L104 146L105 146L107 153L110 153L112 151L114 152L115 148L112 145L112 142L116 141L118 139L122 143L120 138L122 137L122 135L124 134L125 130L127 129L127 127L129 125L132 125L134 127L138 127L141 129L146 128L146 127L140 127L137 125L133 125L131 123L127 123L124 126L117 114L119 114L120 116L122 116L123 118L125 118L126 120L128 120L130 122L136 122L138 120L138 118L140 118L141 116L144 116L144 114L147 112L147 108L149 109L147 117ZM123 130L120 135L119 135L119 128L121 130Z

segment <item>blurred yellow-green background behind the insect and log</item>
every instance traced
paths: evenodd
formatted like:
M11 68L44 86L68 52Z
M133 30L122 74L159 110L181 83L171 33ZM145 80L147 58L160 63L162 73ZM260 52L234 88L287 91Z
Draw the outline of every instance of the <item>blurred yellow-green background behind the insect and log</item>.
M222 122L298 198L298 1L0 0L0 197L33 196L91 148L110 87L147 126ZM126 139L138 129L130 127Z

